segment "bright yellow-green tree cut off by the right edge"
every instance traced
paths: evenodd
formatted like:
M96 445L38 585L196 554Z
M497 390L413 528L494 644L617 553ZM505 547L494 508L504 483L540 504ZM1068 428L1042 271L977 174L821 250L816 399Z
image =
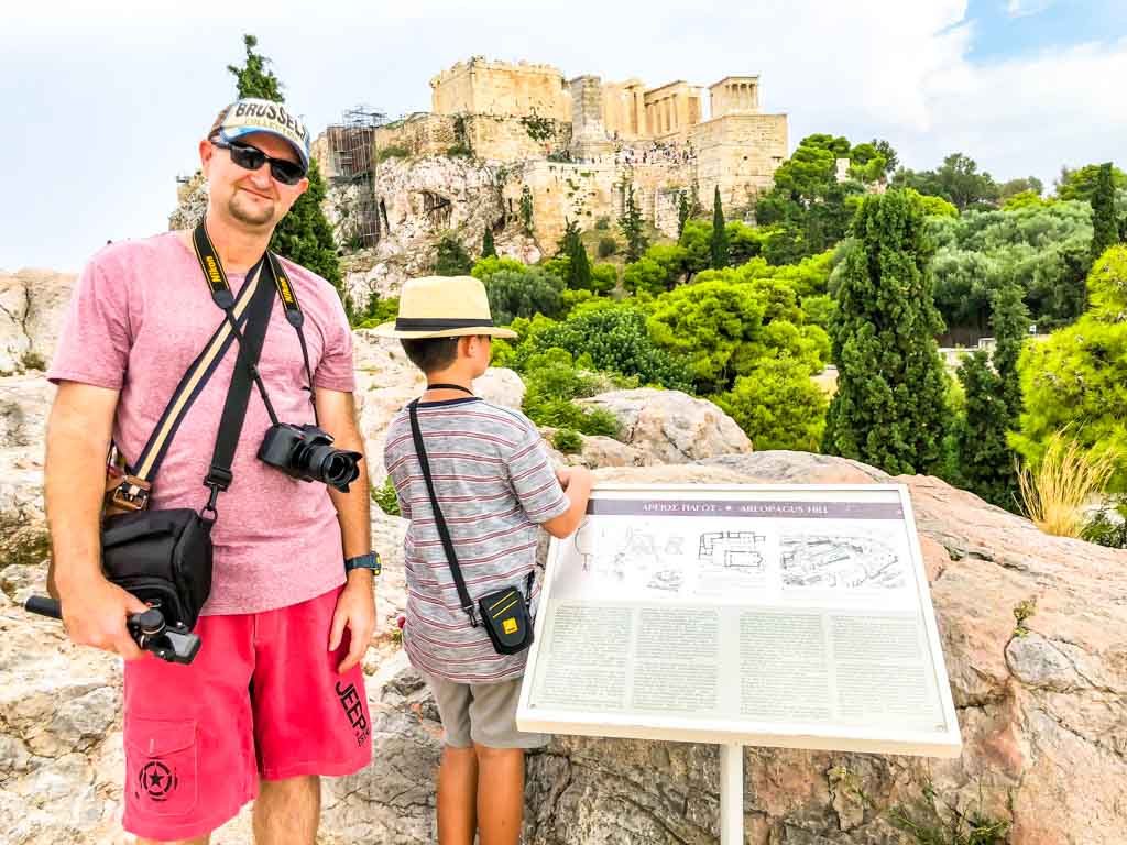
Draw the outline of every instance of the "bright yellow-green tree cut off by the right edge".
M1073 326L1021 353L1024 412L1013 447L1037 464L1054 434L1089 453L1117 454L1110 490L1127 492L1127 247L1112 247L1088 277L1090 305Z

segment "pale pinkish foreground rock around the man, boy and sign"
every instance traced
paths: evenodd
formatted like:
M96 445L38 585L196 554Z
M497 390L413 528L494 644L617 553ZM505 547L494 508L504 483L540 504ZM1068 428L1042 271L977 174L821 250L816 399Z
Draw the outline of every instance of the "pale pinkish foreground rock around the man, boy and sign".
M356 339L362 422L375 463L388 420L420 384L394 344L367 332ZM479 388L520 402L512 373L491 372ZM55 623L18 607L43 589L38 455L50 397L41 375L0 379L0 515L9 539L14 527L30 532L0 550L0 829L14 845L125 843L117 661L70 646ZM593 401L624 424L629 443L614 454L631 450L637 459L598 470L600 479L889 480L841 459L749 453L707 402L644 391ZM600 463L600 454L585 445L573 460ZM964 753L928 760L748 748L746 842L913 842L891 827L889 812L904 804L928 820L920 801L929 785L941 809L1009 821L1014 845L1127 842L1127 553L1045 536L932 478L893 480L907 484L916 513ZM405 603L405 523L378 514L373 530L385 559L382 629L365 659L375 759L358 775L326 782L321 842L414 845L435 839L441 727L390 633ZM1029 599L1036 613L1028 634L1017 637L1013 611ZM710 746L558 737L529 758L525 842L713 843L717 775ZM219 840L250 843L248 815Z

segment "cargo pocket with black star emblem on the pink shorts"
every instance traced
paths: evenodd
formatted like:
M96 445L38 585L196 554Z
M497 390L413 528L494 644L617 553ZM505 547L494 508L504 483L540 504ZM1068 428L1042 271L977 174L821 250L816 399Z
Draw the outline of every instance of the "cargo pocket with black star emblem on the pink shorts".
M198 793L196 723L126 719L125 795L140 813L181 816Z

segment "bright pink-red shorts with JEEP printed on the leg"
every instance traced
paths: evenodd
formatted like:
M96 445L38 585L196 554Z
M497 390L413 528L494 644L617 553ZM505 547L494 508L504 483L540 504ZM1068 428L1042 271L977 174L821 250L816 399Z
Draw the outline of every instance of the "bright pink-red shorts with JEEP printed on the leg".
M339 588L276 611L201 616L188 666L125 665L125 818L137 836L188 839L258 794L258 780L347 775L372 759L364 675L328 650Z

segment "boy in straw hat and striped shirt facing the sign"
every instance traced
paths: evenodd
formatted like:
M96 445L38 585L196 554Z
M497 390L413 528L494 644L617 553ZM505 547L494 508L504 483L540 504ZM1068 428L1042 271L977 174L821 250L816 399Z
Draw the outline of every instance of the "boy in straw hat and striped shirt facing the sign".
M583 519L592 475L554 471L535 426L518 411L474 397L489 367L490 338L515 337L492 324L482 284L472 277L408 282L399 317L378 333L400 339L427 377L418 422L435 495L462 576L474 601L504 587L525 592L540 528L556 537ZM445 729L438 772L440 845L517 843L524 806L524 749L547 742L516 729L527 651L499 655L459 602L406 409L388 427L384 465L400 513L407 622L403 647L426 678ZM539 585L529 590L534 612Z

